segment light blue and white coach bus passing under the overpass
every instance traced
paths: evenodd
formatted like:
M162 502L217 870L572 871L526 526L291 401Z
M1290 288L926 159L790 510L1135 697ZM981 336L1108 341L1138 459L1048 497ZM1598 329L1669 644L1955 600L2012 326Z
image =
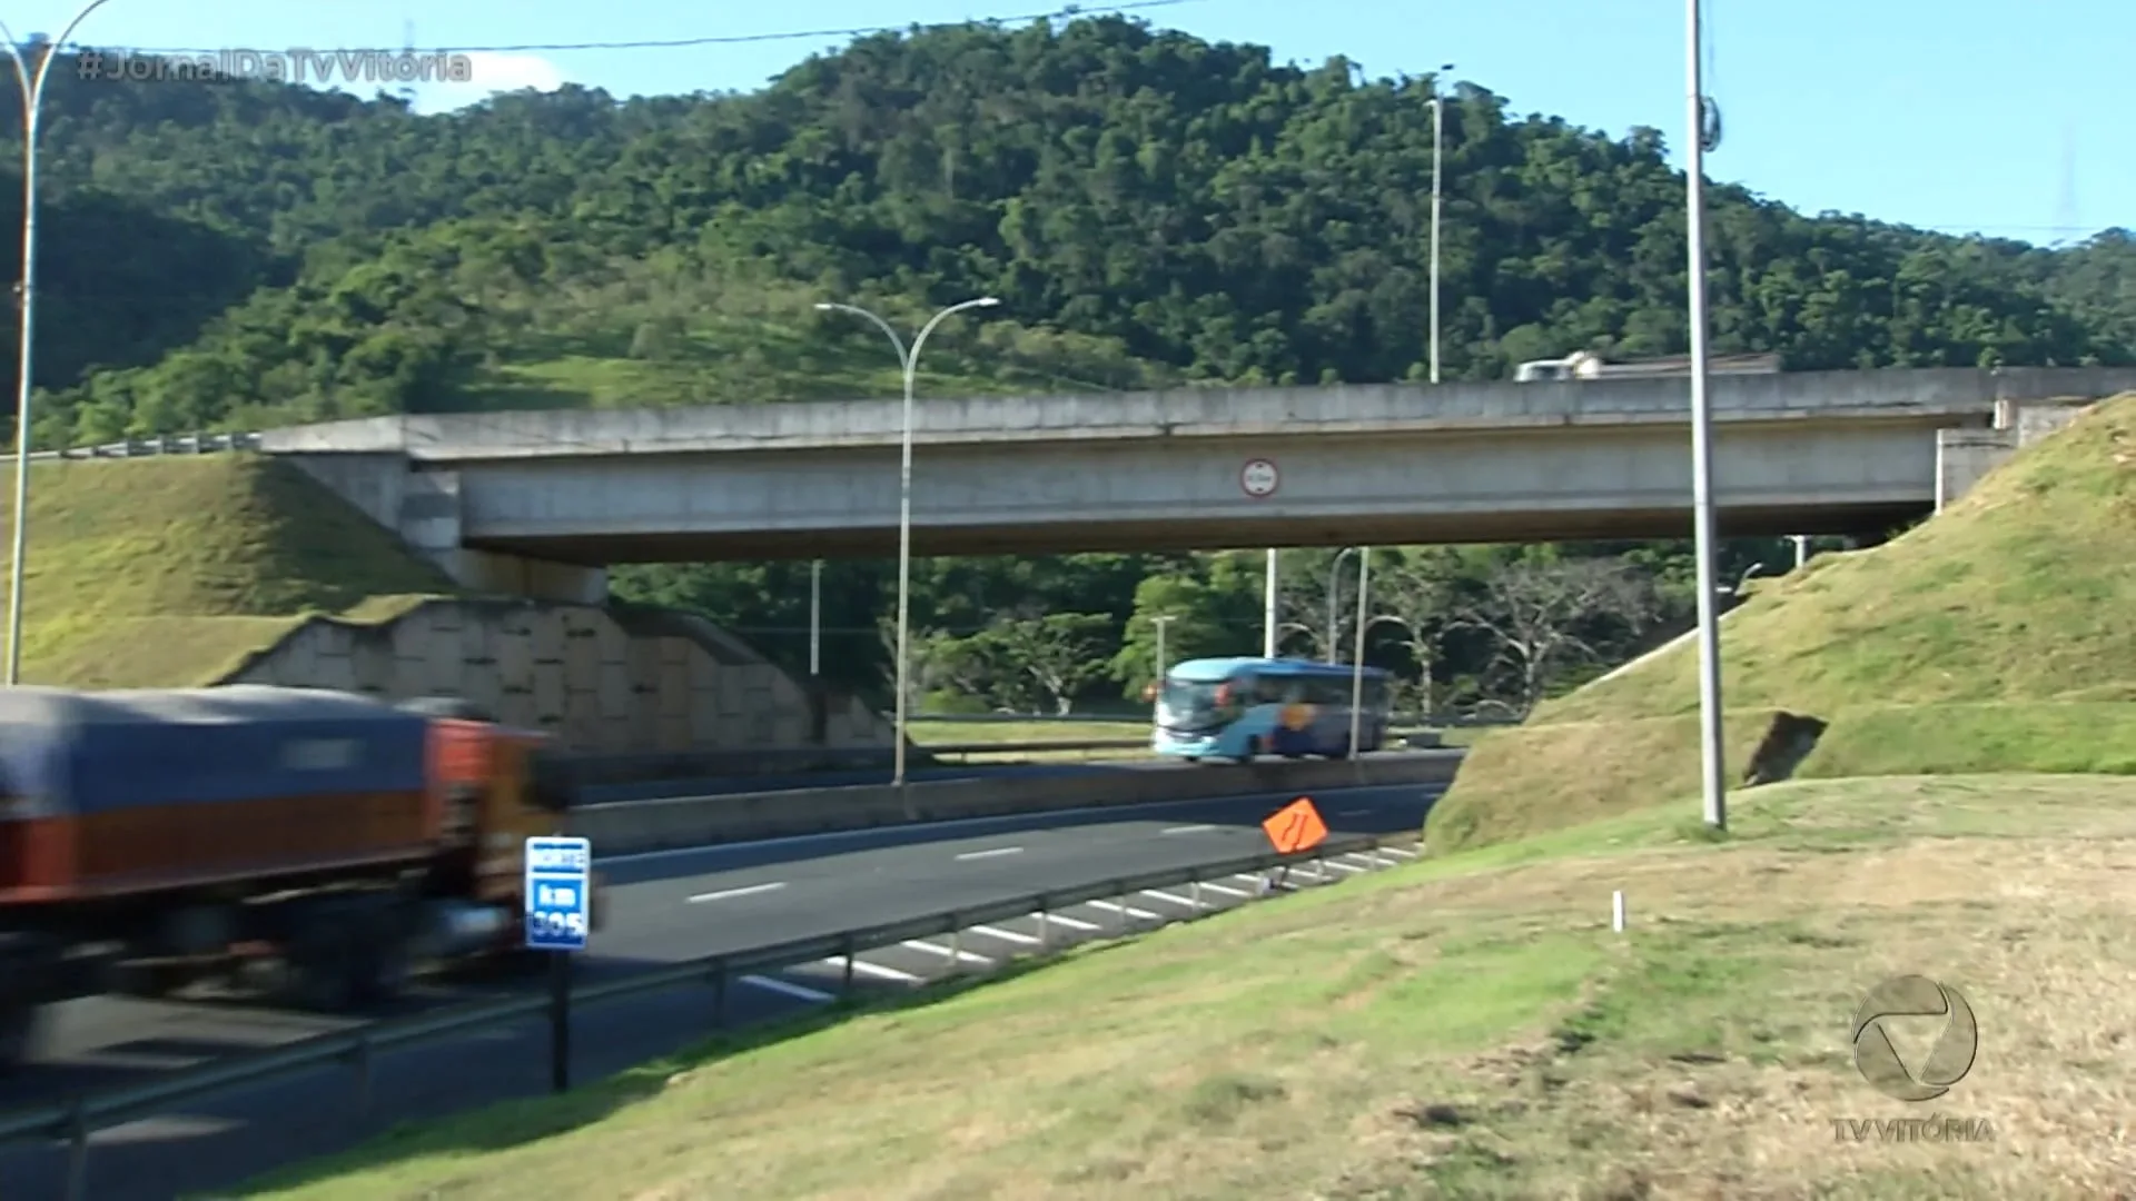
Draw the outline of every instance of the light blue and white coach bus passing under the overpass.
M1358 750L1386 739L1388 673L1367 667ZM1350 754L1352 669L1303 658L1190 658L1160 686L1149 746L1194 763L1256 754L1303 759Z

